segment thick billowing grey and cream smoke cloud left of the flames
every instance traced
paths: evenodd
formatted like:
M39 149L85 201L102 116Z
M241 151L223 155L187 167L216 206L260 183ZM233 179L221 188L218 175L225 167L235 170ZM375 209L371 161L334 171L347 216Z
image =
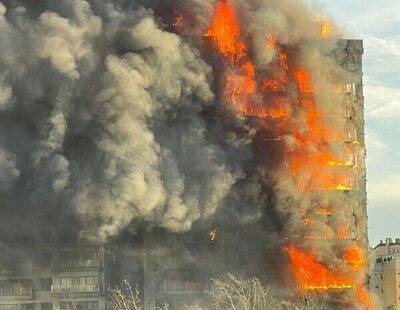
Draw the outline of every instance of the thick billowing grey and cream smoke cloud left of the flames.
M135 221L185 231L216 212L243 173L210 139L211 67L197 49L136 3L0 8L10 209L70 214L99 240Z

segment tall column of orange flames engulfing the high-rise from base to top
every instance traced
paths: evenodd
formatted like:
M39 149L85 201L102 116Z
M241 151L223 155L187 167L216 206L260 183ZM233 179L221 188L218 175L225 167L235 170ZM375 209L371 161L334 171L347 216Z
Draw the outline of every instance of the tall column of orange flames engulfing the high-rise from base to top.
M237 12L234 3L218 2L204 35L211 37L225 63L221 74L223 101L273 131L273 140L282 148L283 157L275 167L279 171L276 182L288 187L281 189L284 195L297 192L298 201L293 201L286 212L300 213L303 219L301 227L291 229L289 245L282 249L289 256L295 283L300 290L326 291L328 295L332 290L347 291L353 296L354 307L372 309L364 288L365 241L351 236L352 223L343 219L340 202L335 198L358 189L357 136L348 122L344 103L332 109L330 104L317 100L324 93L326 101L343 102L341 86L345 79L334 80L327 66L319 68L325 75L322 82L316 81L313 68L301 59L306 55L300 56L300 47L280 43L273 32L266 34L264 48L272 50L274 57L267 67L257 67ZM329 39L328 23L316 19L315 27L316 42ZM311 206L304 209L302 202ZM327 205L325 212L321 203ZM351 207L351 199L345 203ZM299 239L301 236L308 242ZM324 258L332 254L336 266L328 263L330 258Z

